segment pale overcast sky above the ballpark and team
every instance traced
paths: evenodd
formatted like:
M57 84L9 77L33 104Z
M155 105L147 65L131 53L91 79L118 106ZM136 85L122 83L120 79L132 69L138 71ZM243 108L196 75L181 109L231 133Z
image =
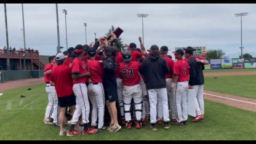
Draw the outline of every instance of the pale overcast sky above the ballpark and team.
M243 54L256 57L256 4L57 4L60 46L66 50L65 14L68 47L87 44L103 36L113 25L120 27L122 41L135 42L142 37L148 49L156 44L175 47L206 46L222 49L229 58L241 55L242 17ZM22 4L6 4L9 46L24 46ZM26 47L39 50L39 55L55 55L58 45L56 4L23 4ZM85 30L84 23L87 23ZM7 46L4 4L0 4L0 47ZM86 34L87 33L87 34ZM169 54L172 55L171 51ZM173 56L173 55L172 55Z

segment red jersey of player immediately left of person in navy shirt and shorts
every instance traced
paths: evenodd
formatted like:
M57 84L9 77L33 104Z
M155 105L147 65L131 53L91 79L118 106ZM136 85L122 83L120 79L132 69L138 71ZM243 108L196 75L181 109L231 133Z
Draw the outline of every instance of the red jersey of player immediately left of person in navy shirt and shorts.
M98 60L88 59L88 69L92 83L102 82L103 65Z

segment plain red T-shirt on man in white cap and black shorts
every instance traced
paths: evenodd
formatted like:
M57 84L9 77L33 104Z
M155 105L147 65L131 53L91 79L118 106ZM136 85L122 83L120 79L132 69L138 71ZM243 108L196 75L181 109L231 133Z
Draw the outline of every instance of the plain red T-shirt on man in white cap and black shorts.
M50 74L50 81L55 82L57 97L65 97L73 94L73 79L70 66L55 64Z

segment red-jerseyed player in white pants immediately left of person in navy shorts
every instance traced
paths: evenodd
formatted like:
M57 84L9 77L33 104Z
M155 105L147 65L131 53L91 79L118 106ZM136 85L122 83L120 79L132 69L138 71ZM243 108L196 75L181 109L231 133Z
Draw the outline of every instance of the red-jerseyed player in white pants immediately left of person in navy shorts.
M95 60L96 49L89 47L87 49L88 69L90 72L91 82L88 84L88 96L92 103L92 121L91 126L97 126L98 118L98 130L105 130L104 124L104 111L105 111L105 95L102 85L103 65Z

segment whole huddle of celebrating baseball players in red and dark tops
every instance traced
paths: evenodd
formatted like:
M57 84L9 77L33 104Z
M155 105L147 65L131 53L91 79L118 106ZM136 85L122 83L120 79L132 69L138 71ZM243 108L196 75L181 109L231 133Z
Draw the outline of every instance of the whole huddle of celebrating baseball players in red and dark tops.
M153 45L147 52L140 37L140 48L131 42L122 49L116 35L110 35L109 40L102 36L49 57L44 68L45 124L60 127L59 135L68 137L117 132L121 126L140 129L148 119L152 130L162 122L164 129L170 122L182 126L188 124L188 89L196 94L192 122L204 119L202 70L207 60L187 47L172 51L174 62L167 46ZM105 126L106 112L110 120ZM70 124L68 130L65 124Z

